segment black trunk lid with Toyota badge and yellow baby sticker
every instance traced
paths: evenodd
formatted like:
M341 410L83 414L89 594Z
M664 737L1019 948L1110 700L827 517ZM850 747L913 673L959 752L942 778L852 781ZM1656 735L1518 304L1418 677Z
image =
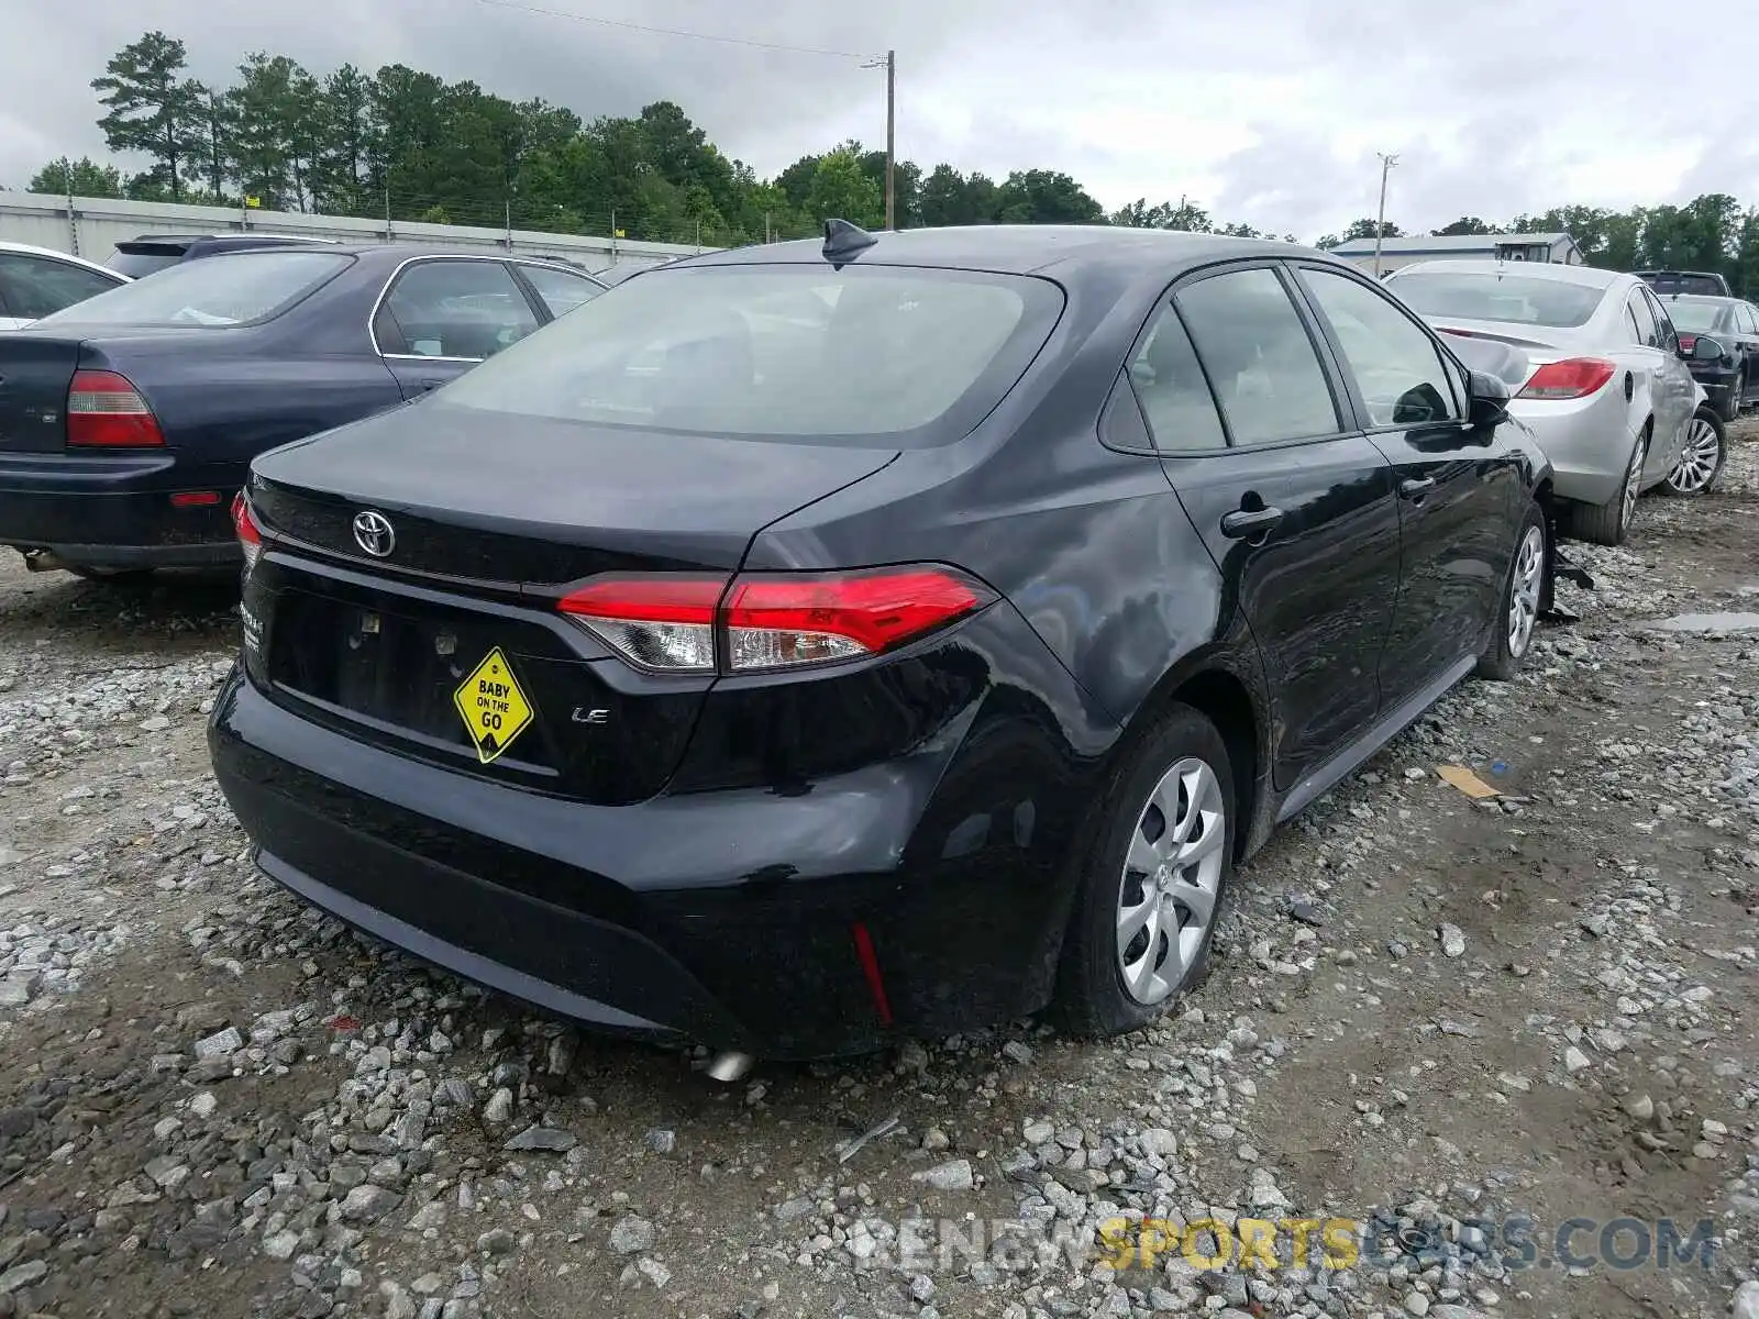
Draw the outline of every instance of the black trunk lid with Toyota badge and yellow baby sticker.
M257 459L267 549L246 582L246 665L273 698L399 754L640 800L682 758L714 675L637 672L556 610L565 587L624 572L732 577L763 526L894 457L438 399L380 415ZM357 536L361 515L382 522ZM489 746L471 714L484 693L500 718Z

